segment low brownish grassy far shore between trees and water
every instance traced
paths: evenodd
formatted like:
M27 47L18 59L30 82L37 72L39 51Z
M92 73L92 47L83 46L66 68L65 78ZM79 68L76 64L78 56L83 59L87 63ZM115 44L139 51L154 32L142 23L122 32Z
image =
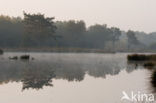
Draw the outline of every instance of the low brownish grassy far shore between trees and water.
M52 52L52 53L156 53L151 50L105 50L90 48L2 48L4 52Z

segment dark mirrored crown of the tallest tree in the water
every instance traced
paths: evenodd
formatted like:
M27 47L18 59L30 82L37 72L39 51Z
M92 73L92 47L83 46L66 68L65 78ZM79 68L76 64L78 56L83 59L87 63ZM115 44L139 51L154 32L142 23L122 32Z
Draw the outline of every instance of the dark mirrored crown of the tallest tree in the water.
M53 86L52 78L55 77L54 71L44 68L27 68L23 73L21 82L23 83L23 90L34 88L42 89L43 86Z

